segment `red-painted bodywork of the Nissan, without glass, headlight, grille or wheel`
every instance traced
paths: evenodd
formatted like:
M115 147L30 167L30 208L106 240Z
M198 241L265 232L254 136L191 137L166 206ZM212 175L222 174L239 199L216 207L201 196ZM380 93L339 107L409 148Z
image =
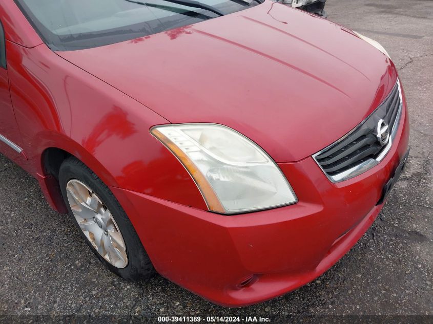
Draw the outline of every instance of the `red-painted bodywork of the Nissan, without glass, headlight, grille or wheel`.
M156 269L218 304L257 303L331 267L374 221L406 152L404 103L385 159L351 180L327 180L311 155L369 115L397 71L347 29L283 5L72 52L52 52L12 0L0 4L0 19L8 63L0 134L28 159L4 144L0 152L38 179L58 211L44 152L83 161L111 187ZM279 162L299 202L232 217L206 211L188 172L149 133L169 122L220 123L248 136Z

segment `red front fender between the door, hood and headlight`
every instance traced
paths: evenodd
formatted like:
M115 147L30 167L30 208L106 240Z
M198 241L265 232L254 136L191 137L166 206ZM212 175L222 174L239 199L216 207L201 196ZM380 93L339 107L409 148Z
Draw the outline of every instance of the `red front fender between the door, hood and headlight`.
M47 182L42 157L55 147L108 186L206 209L187 170L149 132L166 119L46 45L8 42L7 49L11 97L33 176Z

